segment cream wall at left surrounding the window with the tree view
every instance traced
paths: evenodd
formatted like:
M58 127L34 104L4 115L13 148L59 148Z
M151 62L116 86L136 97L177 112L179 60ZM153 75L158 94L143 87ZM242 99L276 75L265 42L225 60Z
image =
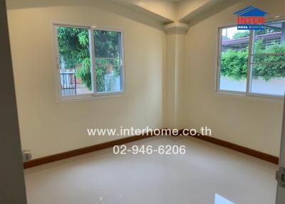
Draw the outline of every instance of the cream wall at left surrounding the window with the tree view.
M89 137L86 128L162 128L166 40L160 25L103 1L11 0L7 4L21 143L33 158L118 139ZM125 30L127 96L56 103L53 21Z

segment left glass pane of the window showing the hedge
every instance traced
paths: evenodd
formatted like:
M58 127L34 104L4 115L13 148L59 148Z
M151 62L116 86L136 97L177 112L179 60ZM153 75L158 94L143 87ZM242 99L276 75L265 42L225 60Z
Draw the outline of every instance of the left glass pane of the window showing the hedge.
M237 30L237 26L222 29L220 90L247 90L249 34L249 31Z

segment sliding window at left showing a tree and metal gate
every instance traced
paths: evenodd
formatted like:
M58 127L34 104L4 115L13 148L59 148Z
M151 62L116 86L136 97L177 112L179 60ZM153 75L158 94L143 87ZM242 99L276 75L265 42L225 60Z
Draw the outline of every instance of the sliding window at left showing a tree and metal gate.
M61 24L54 27L60 99L124 92L123 31Z

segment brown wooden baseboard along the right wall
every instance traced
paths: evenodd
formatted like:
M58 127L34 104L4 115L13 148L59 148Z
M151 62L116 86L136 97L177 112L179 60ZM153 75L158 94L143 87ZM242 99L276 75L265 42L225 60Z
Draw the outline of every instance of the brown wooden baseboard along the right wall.
M179 135L183 135L183 130L180 130L179 131ZM190 136L190 135L189 135ZM202 136L201 134L197 134L195 136L192 136L193 138L198 138L202 141L207 141L209 143L213 143L213 144L216 144L218 146L222 146L224 148L229 148L231 150L234 150L234 151L238 151L239 153L244 153L244 154L247 154L247 155L251 155L255 158L260 158L262 160L266 160L266 161L269 161L270 163L274 163L274 164L279 164L279 158L274 156L274 155L269 155L267 153L262 153L260 151L256 151L256 150L253 150L251 148L246 148L244 146L239 146L237 144L234 144L234 143L229 143L227 141L222 141L220 139L217 139L217 138L213 138L213 137L210 137L210 136Z

